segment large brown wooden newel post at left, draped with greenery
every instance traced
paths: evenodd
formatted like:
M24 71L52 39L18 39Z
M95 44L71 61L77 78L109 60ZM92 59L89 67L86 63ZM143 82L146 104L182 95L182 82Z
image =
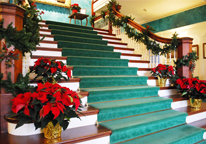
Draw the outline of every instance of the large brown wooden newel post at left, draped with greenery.
M4 19L3 27L7 27L11 22L13 27L16 27L18 31L23 29L23 18L25 10L15 4L0 3L0 21ZM2 43L0 42L0 48ZM17 51L17 50L16 50ZM16 81L19 73L22 73L22 53L19 52L19 60L13 62L14 67L6 69L5 61L0 63L0 72L4 74L3 79L7 78L7 72L11 72L11 79ZM7 123L4 120L4 115L11 110L12 94L6 93L4 89L1 89L0 93L0 129L1 133L7 132Z

